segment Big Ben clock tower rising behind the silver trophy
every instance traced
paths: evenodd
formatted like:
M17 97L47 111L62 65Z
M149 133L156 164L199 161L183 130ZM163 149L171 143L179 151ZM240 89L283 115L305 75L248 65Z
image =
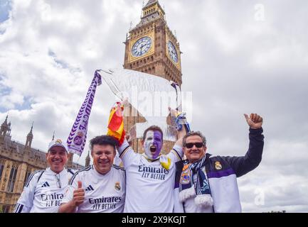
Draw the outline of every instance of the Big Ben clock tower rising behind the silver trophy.
M181 87L181 51L175 35L166 24L165 12L158 0L149 0L142 9L141 21L129 31L125 44L124 69L136 70L176 82ZM129 107L129 113L136 113ZM135 123L145 119L137 116L125 116L124 128L129 129ZM132 147L142 153L140 139L134 140ZM162 150L171 150L174 143L164 142Z

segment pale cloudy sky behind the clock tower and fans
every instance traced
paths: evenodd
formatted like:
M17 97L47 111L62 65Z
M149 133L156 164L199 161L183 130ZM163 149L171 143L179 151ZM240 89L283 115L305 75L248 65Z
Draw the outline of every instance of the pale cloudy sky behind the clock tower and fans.
M244 155L243 114L264 118L262 162L238 179L243 211L307 212L307 1L159 2L208 153ZM95 70L122 67L141 12L142 0L0 0L0 121L9 112L12 138L24 143L32 121L35 148L46 150L53 131L67 138ZM98 87L88 138L105 133L114 102Z

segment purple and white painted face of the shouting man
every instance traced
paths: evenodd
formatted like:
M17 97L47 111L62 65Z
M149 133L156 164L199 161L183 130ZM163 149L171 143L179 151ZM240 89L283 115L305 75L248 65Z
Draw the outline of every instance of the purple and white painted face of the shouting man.
M161 153L163 139L159 131L147 131L146 138L144 139L144 151L150 159L156 159ZM156 148L155 153L151 152L151 147Z

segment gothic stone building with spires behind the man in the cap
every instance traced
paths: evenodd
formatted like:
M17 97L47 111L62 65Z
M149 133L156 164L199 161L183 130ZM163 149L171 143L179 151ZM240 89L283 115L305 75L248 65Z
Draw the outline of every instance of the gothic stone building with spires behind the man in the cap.
M31 148L33 127L23 145L11 140L11 123L7 118L0 128L0 213L12 212L31 173L47 167L46 151ZM89 164L90 157L87 157L86 165ZM70 153L68 167L83 166L73 163L73 154Z

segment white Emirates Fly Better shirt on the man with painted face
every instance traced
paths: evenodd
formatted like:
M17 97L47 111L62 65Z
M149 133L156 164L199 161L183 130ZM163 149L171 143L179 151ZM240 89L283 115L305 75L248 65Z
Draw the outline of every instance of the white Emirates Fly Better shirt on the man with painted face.
M175 162L183 157L180 146L174 145L167 155L171 159L169 170L159 160L149 162L144 155L134 153L127 140L118 149L127 175L124 212L171 213L174 209Z

